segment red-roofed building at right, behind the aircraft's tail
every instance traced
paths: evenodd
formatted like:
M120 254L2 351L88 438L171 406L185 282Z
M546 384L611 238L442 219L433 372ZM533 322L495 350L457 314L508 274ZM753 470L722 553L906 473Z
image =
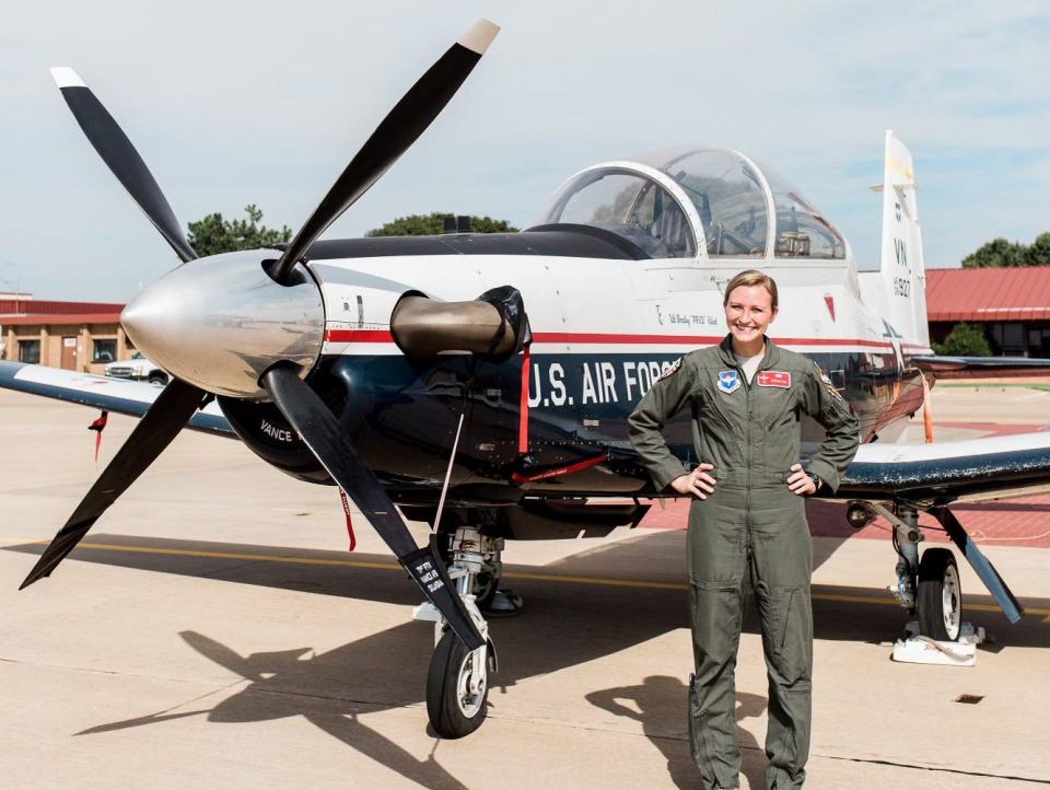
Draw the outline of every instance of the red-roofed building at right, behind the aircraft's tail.
M926 270L930 338L978 324L1005 357L1050 358L1050 266Z

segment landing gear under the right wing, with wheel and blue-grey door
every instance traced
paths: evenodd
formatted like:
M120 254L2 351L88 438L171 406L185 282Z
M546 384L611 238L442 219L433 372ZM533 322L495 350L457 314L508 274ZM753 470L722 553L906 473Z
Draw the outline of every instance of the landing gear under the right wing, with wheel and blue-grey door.
M1024 608L992 564L970 541L955 514L946 506L924 509L941 522L945 533L984 582L1007 619L1011 623L1020 619ZM919 525L919 510L910 503L856 501L851 502L847 511L847 520L854 527L865 526L876 515L882 515L894 527L894 549L898 557L897 582L890 590L915 620L909 624L908 634L925 643L962 642L975 647L983 638L983 629L975 631L970 624L962 621L962 585L955 554L949 548L937 546L923 550L920 559L919 544L924 538Z

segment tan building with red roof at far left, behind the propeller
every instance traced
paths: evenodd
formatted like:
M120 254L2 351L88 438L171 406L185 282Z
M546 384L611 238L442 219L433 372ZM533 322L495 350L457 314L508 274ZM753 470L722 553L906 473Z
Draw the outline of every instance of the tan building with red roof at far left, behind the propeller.
M120 326L122 304L3 295L13 298L0 299L0 359L101 374L135 352Z

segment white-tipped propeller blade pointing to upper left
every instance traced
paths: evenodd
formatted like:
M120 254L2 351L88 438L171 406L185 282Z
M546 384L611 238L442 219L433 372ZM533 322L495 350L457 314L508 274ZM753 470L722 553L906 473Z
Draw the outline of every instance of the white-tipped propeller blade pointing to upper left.
M135 150L127 135L113 119L113 116L95 98L75 71L60 67L51 69L51 78L62 92L66 104L80 124L88 141L94 147L102 160L108 165L117 181L131 195L150 222L161 232L165 241L183 263L197 257L189 246L183 229L175 219L175 212L156 185L150 169Z

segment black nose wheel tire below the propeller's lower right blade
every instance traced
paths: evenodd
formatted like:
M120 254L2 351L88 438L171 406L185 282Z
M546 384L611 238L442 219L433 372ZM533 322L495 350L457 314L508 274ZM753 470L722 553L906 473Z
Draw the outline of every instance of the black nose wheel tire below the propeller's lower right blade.
M488 651L487 651L488 652ZM442 737L463 737L481 727L489 698L489 667L475 666L478 654L445 631L427 673L427 713Z

